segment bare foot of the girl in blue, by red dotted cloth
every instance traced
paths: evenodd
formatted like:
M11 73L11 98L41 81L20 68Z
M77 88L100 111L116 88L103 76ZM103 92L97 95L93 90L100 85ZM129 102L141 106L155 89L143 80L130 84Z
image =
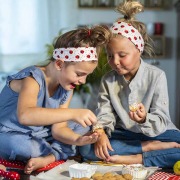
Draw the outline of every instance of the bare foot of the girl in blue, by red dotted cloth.
M50 154L48 156L45 157L37 157L37 158L31 158L25 168L24 168L24 172L26 174L30 174L32 171L35 171L39 168L42 168L44 166L47 166L48 164L55 162L55 157L53 154Z

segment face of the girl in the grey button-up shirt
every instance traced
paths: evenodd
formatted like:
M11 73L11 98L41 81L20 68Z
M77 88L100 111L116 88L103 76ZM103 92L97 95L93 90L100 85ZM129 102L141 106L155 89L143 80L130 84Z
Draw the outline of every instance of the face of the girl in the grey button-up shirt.
M140 65L141 53L135 45L123 36L111 39L107 46L108 62L118 74L131 80Z

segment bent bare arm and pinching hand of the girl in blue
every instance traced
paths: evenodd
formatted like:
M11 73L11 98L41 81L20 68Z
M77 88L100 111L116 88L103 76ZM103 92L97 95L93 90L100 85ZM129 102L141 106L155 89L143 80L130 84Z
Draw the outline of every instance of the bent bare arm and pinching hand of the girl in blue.
M22 80L19 91L17 114L19 122L26 126L51 125L67 120L74 120L82 126L96 123L96 116L88 109L53 109L37 106L39 85L32 78Z

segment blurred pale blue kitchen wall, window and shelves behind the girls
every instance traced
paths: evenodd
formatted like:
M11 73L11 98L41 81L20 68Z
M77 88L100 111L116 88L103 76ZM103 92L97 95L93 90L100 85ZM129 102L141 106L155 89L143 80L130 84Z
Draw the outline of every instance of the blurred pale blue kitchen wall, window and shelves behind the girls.
M120 15L114 3L122 0L0 0L0 90L7 74L47 58L46 44L59 31L77 26L111 24ZM172 121L180 124L176 115L177 66L177 0L144 0L145 11L137 18L147 25L155 38L155 59L145 59L157 65L167 75ZM156 24L156 28L155 28ZM159 30L160 28L160 30ZM156 29L156 36L154 36ZM157 35L158 34L158 35ZM160 52L159 52L160 51ZM179 108L179 107L178 107Z

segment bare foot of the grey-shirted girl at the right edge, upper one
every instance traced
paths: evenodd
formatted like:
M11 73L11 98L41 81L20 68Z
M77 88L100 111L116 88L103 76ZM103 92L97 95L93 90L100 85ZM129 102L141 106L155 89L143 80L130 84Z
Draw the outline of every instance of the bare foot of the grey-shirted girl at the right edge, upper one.
M176 142L143 141L141 145L143 152L169 148L180 148L180 144Z

